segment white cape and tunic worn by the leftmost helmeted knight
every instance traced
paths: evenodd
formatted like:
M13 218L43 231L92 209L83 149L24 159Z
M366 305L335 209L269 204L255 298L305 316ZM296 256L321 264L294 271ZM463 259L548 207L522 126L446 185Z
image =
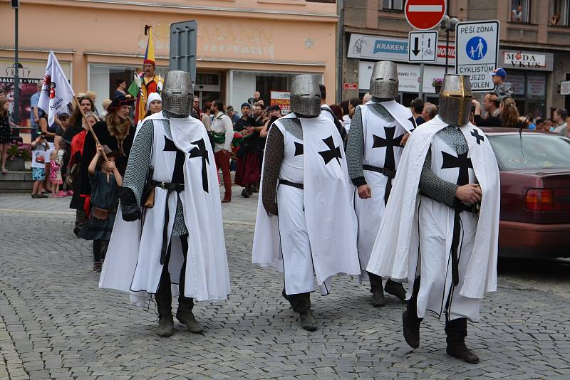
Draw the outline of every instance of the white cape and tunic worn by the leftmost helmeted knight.
M155 125L151 157L151 163L155 165L154 179L170 181L174 154L167 156L160 148L163 145L157 147L157 144L164 144L162 123L157 121L167 119L162 112L157 112L145 120L153 120ZM193 117L168 120L172 141L178 149L185 152L185 190L180 193L185 224L189 231L184 294L197 301L225 300L229 294L229 270L212 147L204 125L199 120ZM192 142L200 139L204 140L208 151L209 162L204 162L207 165L207 192L202 185L202 159L190 157L190 151L198 148ZM99 287L130 292L131 301L137 305L143 304L149 297L148 293L156 292L162 273L162 228L164 223L168 223L170 239L176 213L175 194L173 192L167 199L167 191L156 188L155 206L147 209L142 229L140 220L123 221L119 207ZM165 221L165 207L170 209L169 221ZM176 265L179 265L180 270L182 256L178 239L172 240L169 265L173 295L178 292L177 285L174 284L177 283L178 275L173 271Z

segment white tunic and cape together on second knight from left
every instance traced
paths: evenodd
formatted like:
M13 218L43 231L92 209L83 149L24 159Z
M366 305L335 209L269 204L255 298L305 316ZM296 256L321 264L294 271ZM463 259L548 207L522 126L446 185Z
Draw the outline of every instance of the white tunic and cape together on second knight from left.
M291 117L295 115L285 118ZM346 157L338 130L324 115L300 120L302 141L279 120L274 127L284 135L279 178L304 184L304 189L279 185L278 217L267 215L260 194L253 263L284 271L289 295L313 291L314 275L321 293L327 294L332 275L360 273L356 215L351 207ZM303 154L299 154L299 144Z

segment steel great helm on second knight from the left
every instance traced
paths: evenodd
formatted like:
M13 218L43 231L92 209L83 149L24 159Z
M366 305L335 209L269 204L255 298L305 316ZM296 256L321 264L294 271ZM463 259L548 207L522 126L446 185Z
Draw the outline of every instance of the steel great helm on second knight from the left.
M316 75L301 74L291 84L291 111L301 116L321 114L321 90Z

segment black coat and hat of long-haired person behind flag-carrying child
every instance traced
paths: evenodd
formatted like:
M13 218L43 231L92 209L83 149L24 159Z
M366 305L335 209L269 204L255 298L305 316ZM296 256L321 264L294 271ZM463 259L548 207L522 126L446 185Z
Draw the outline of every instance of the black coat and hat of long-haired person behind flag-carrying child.
M131 125L130 118L120 119L116 117L116 111L122 105L132 105L135 100L131 97L115 97L108 107L108 115L100 122L93 125L93 132L99 139L99 143L103 147L107 147L111 151L119 152L115 157L115 165L121 175L125 174L127 160L130 147L133 145L135 136L135 128ZM119 120L117 120L119 119ZM87 132L85 142L83 142L83 152L81 152L81 169L78 172L78 178L73 184L73 199L71 205L73 208L83 206L86 215L90 213L90 196L91 186L89 184L89 174L87 168L89 163L95 156L96 148L93 134Z

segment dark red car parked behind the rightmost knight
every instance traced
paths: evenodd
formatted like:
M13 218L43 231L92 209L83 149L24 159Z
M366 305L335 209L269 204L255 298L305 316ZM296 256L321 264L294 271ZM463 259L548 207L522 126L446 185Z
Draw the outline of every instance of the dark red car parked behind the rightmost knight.
M482 128L501 176L499 256L570 257L570 139Z

